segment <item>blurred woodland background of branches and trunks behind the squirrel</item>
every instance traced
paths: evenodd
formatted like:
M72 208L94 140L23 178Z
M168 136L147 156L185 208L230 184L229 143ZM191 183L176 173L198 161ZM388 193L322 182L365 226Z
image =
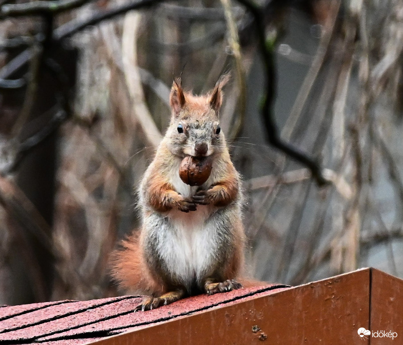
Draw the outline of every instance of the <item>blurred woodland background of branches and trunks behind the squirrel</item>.
M232 72L249 276L403 277L402 1L0 5L0 304L121 293L108 255L180 74L200 93Z

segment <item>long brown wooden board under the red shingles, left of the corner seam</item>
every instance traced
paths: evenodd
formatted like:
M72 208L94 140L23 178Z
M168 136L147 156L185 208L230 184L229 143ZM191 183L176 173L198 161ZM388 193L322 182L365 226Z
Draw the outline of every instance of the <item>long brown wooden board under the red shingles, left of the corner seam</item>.
M371 269L362 269L101 340L98 345L361 344Z

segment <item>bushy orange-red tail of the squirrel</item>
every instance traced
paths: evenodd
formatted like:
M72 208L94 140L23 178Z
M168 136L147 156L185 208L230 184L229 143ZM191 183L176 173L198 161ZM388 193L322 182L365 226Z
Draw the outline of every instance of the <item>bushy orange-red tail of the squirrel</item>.
M162 293L151 277L139 246L138 231L121 243L121 249L111 254L111 276L119 287L130 293L158 295Z

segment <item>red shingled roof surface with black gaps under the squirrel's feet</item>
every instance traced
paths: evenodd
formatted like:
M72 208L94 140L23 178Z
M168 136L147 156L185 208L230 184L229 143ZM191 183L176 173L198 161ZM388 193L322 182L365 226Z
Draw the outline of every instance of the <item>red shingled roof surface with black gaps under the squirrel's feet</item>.
M142 300L139 296L1 307L0 345L34 342L46 345L84 344L217 305L225 306L268 294L273 289L273 284L266 284L226 294L194 296L147 313L134 313L134 307Z

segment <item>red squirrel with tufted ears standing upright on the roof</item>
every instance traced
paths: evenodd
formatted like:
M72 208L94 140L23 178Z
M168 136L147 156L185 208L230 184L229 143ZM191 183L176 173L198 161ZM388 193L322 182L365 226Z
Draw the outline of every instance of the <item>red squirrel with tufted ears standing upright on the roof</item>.
M242 191L219 126L224 75L214 89L195 96L171 88L170 125L139 187L139 232L113 253L112 276L121 288L151 295L136 311L186 296L239 289L245 234ZM184 183L181 161L208 157L211 173L201 186Z

